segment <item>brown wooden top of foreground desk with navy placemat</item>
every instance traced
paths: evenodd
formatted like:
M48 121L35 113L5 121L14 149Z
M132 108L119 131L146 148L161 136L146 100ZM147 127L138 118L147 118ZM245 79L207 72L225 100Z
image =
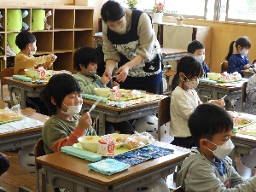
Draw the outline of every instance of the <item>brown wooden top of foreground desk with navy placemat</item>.
M89 161L82 160L68 154L63 154L61 152L40 156L36 161L38 164L49 166L50 168L66 172L67 174L86 179L90 182L101 184L103 186L111 186L115 183L129 180L131 177L139 177L141 174L145 174L147 172L150 173L153 170L160 170L170 164L177 163L187 157L190 152L187 148L175 147L169 143L160 143L155 141L153 144L164 148L174 148L174 153L158 159L147 160L141 164L131 166L124 172L113 174L112 176L94 172L88 167L88 164L90 164Z

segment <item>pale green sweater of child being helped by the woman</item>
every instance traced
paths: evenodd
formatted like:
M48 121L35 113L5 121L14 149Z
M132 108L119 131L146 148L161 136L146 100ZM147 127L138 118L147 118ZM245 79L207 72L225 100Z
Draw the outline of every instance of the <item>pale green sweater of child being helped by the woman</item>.
M100 76L98 76L98 75L95 75L95 76L96 76L96 80L101 79ZM82 89L82 93L95 95L96 93L95 93L94 89L100 87L98 84L96 84L96 80L87 78L79 72L76 74L73 74L73 77L79 81L79 84Z

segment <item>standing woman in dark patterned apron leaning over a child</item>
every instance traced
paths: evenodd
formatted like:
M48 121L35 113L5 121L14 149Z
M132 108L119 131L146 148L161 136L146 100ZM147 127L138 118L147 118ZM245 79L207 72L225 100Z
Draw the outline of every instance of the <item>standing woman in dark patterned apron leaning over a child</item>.
M162 62L150 16L108 1L101 10L106 70L111 78L118 62L116 80L120 88L162 94Z

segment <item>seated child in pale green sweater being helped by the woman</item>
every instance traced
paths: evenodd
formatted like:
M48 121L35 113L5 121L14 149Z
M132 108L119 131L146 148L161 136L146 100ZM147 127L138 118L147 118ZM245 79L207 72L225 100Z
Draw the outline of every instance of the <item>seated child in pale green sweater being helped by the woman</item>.
M100 52L94 48L84 46L76 50L73 55L73 63L78 71L73 77L79 81L82 93L95 94L95 88L103 87L108 84L110 79L107 76L96 75L97 63L100 62ZM113 82L113 86L119 86ZM129 121L120 123L106 122L105 134L119 131L122 134L131 134L133 127Z

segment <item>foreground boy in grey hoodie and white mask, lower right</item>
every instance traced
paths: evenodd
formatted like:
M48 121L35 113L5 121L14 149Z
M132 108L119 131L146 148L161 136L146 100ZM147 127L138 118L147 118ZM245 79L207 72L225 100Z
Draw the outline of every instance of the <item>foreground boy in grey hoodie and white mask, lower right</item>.
M202 104L191 113L188 124L196 148L183 160L177 185L186 192L256 191L256 177L241 177L227 157L234 148L233 119L224 108Z

